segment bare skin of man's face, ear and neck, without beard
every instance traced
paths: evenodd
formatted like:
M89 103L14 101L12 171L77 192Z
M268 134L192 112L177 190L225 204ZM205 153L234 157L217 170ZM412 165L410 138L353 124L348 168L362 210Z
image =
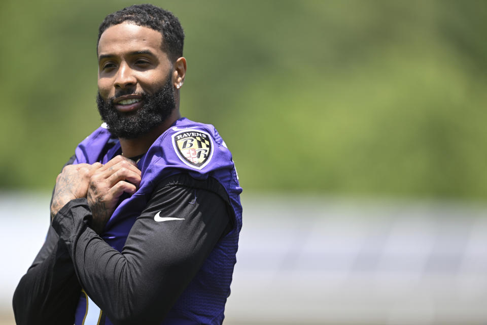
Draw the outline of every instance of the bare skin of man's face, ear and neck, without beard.
M137 139L119 139L123 155L126 157L146 152L152 143L181 117L180 91L177 85L184 82L186 59L180 57L171 62L168 55L161 50L161 42L160 32L127 22L107 28L98 42L98 91L104 99L115 97L114 102L117 104L123 99L136 98L133 95L119 96L119 93L126 91L145 90L153 94L164 85L169 73L176 90L176 108L164 123ZM129 112L141 104L142 102L139 102L126 107L116 105L115 108Z

